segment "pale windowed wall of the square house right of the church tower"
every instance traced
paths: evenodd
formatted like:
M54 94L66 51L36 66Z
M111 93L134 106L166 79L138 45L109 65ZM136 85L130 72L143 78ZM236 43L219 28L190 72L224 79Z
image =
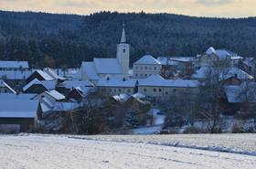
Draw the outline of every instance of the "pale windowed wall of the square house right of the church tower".
M133 78L148 78L162 70L162 65L133 64Z

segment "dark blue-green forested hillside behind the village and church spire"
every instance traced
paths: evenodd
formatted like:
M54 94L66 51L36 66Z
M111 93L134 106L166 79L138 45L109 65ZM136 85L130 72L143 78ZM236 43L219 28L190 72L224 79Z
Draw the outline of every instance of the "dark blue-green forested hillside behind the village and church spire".
M64 65L114 58L123 22L131 45L131 66L153 57L196 57L209 47L256 57L256 17L231 19L173 14L100 12L90 16L0 11L0 59L40 66L48 54Z

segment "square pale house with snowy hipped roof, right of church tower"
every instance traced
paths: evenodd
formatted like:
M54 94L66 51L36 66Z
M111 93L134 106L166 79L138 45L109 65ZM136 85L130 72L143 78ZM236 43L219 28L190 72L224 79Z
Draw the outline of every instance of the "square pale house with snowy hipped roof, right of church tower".
M146 79L161 70L162 63L147 54L133 63L133 79Z

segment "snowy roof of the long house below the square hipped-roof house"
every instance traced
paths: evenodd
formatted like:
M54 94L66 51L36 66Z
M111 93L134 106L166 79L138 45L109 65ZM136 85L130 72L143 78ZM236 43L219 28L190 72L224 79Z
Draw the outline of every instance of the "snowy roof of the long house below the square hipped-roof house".
M197 80L187 79L164 79L160 75L155 74L145 79L138 86L159 86L159 87L199 87L200 82Z

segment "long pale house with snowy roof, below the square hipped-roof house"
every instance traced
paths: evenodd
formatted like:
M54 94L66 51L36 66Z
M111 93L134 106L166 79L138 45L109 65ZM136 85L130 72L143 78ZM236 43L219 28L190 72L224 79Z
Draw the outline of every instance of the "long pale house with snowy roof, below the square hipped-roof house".
M155 74L138 84L138 92L144 94L146 100L149 100L153 107L157 107L160 101L166 100L174 94L187 93L195 97L199 92L199 85L197 80L163 79Z

